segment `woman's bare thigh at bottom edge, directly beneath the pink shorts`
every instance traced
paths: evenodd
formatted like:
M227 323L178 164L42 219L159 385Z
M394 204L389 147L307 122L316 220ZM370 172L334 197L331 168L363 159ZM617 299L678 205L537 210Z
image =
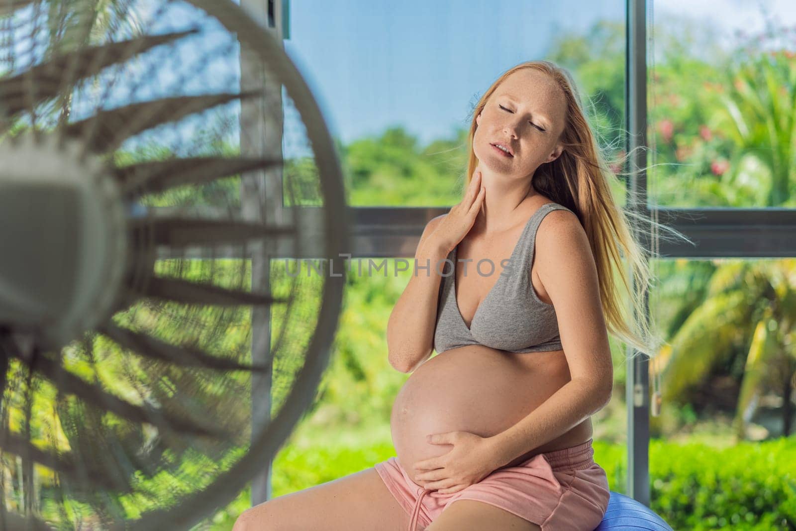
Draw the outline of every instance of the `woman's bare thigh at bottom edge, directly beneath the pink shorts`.
M541 528L516 514L475 500L451 502L426 531L539 531Z

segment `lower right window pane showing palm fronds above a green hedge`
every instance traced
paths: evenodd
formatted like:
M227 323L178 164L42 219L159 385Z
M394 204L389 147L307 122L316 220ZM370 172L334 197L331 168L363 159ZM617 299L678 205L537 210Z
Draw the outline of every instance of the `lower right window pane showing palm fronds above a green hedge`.
M652 509L673 529L791 529L796 260L659 260Z

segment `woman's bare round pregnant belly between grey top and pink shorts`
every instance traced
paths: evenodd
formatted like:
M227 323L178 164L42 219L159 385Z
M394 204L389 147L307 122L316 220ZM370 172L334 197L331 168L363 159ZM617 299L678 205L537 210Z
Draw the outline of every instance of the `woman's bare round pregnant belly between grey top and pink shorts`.
M426 435L496 435L566 384L566 361L556 357L551 363L546 354L470 345L446 350L420 365L400 388L390 418L396 456L412 481L414 463L451 449L448 444L427 443ZM533 356L537 358L528 358Z

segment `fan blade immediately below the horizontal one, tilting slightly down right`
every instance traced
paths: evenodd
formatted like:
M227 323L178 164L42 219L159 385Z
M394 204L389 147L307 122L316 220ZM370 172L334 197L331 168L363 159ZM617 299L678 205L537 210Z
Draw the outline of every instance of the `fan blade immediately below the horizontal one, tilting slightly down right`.
M266 306L273 303L286 303L287 299L269 295L257 295L250 291L228 290L211 284L200 284L181 279L162 279L153 277L146 283L142 292L146 297L166 299L185 304L206 304L217 306Z

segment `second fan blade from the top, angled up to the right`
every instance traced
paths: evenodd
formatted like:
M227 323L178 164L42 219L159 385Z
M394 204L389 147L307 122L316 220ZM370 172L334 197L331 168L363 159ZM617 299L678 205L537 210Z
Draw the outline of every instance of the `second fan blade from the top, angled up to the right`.
M91 118L70 123L64 135L85 139L95 153L115 150L121 143L141 131L176 121L195 112L206 111L232 100L261 96L260 91L228 92L210 96L177 96L132 103L109 111L98 111Z

